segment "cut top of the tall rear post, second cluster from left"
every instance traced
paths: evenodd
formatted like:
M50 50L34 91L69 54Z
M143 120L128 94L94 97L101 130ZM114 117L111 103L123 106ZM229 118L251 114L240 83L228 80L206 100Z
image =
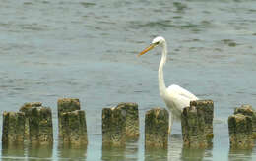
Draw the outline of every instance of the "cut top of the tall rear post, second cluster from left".
M58 99L58 116L63 112L71 112L80 109L80 101L78 98Z

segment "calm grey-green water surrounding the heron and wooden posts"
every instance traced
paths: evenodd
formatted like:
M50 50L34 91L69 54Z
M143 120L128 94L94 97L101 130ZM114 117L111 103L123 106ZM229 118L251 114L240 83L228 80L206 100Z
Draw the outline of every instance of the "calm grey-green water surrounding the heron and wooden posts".
M183 149L175 123L168 150L144 150L145 112L165 107L157 79L160 49L136 55L156 35L168 42L166 84L215 102L212 149ZM0 111L43 102L52 108L55 138L50 148L2 148L1 158L255 160L256 148L229 150L226 122L234 107L256 108L255 43L254 0L0 0ZM61 97L81 100L87 148L58 146ZM126 149L102 149L101 109L123 101L139 104L141 137Z

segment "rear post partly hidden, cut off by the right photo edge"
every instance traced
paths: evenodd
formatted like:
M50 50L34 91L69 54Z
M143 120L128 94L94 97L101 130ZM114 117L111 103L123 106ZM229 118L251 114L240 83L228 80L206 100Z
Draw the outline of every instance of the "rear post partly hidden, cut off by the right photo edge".
M251 105L242 105L241 107L234 109L234 114L243 114L251 117L252 119L252 135L256 138L256 111L252 109Z

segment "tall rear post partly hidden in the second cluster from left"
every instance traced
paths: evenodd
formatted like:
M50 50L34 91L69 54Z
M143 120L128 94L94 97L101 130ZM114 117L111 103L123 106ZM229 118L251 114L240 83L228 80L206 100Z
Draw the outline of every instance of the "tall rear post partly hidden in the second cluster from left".
M65 130L65 122L62 121L62 114L65 112L72 112L75 110L80 110L80 101L77 98L61 98L58 99L58 128L59 137L62 139Z

